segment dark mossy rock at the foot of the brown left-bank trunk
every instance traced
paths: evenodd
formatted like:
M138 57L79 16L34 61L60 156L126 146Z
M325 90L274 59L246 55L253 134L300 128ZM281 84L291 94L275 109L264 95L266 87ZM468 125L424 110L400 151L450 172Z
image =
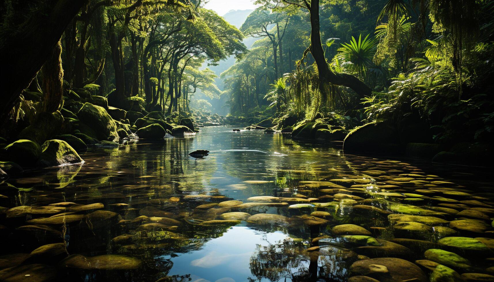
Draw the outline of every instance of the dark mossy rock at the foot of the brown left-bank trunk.
M53 113L39 113L35 120L20 133L19 139L32 140L38 144L58 135L63 125L63 117L59 111Z

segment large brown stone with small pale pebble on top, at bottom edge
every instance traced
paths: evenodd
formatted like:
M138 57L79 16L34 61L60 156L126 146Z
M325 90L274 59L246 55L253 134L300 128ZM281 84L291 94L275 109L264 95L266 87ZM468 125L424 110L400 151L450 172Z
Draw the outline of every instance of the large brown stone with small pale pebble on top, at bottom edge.
M383 273L382 267L375 266L384 266L388 271ZM359 260L351 265L350 271L359 275L370 275L380 282L428 281L427 276L418 266L410 261L392 257Z

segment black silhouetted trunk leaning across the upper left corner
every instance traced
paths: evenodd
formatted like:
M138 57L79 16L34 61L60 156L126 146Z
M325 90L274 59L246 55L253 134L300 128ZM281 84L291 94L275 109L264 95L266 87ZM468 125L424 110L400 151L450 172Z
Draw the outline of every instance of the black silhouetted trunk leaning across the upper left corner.
M0 124L17 103L44 62L51 56L64 30L88 0L58 0L46 3L46 13L37 13L30 24L5 36L0 47Z

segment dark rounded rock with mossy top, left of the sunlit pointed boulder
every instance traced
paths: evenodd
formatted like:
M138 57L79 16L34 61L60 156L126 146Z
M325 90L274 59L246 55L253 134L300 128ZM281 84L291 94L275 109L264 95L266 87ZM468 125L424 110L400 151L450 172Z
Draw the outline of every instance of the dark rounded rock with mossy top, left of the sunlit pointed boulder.
M21 139L3 149L1 160L12 161L22 167L29 167L35 166L40 156L40 145L31 140Z

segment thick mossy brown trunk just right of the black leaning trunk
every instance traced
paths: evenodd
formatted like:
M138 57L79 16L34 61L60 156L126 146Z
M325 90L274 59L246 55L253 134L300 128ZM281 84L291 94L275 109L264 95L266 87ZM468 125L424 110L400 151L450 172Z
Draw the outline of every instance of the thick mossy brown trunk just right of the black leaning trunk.
M62 43L53 47L51 56L43 65L44 111L53 113L63 100Z

